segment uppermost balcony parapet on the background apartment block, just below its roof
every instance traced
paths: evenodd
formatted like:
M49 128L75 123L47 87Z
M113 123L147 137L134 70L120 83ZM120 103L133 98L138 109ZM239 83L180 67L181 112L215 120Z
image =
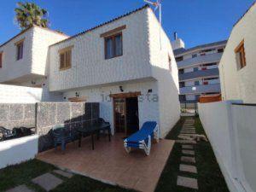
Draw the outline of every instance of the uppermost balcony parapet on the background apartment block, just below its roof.
M204 63L211 63L211 62L218 62L220 61L222 56L222 53L214 53L210 55L201 55L197 56L188 60L183 60L177 62L177 67L184 68L184 67L189 67L193 65L199 65L199 64L204 64Z

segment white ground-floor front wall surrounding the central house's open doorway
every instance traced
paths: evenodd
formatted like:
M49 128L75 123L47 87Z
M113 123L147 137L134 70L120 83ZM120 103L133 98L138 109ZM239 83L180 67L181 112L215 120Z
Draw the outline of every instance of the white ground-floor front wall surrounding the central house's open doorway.
M86 102L100 102L100 116L106 121L110 122L113 131L113 99L109 94L121 93L119 85L123 86L124 93L141 91L142 96L138 97L138 112L139 112L139 125L140 127L148 120L159 121L159 102L157 99L157 83L155 81L144 81L136 83L123 83L112 86L91 87L81 90L69 90L64 93L68 98L74 97L75 92L79 92L79 96L85 97ZM152 89L153 92L148 94L148 90Z

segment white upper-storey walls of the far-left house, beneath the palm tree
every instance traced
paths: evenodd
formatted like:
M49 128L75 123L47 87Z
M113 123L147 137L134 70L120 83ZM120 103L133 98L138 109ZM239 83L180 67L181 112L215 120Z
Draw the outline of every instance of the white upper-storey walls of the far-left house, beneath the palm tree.
M3 51L3 67L0 68L0 82L16 79L15 84L37 79L37 76L46 75L46 61L50 44L54 44L66 35L52 32L39 26L32 26L7 44L0 47ZM24 39L23 58L16 61L15 43ZM18 79L18 80L17 80Z

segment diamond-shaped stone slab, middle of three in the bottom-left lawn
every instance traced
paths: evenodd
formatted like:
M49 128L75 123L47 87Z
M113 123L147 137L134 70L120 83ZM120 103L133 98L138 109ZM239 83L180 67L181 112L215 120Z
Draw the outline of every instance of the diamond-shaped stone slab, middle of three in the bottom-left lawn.
M55 177L53 174L50 174L49 172L32 179L32 183L38 184L40 187L44 188L46 191L55 189L55 187L57 187L62 182L63 181L61 180L61 178Z

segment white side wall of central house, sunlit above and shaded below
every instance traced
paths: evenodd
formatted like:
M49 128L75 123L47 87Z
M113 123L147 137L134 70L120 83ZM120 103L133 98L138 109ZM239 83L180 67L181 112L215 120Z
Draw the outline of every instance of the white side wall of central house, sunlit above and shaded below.
M158 82L160 129L164 137L180 117L178 71L172 45L152 9L148 9L149 55L152 74ZM172 59L169 68L168 55Z

